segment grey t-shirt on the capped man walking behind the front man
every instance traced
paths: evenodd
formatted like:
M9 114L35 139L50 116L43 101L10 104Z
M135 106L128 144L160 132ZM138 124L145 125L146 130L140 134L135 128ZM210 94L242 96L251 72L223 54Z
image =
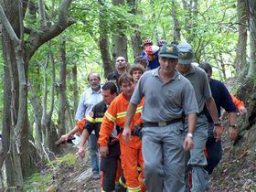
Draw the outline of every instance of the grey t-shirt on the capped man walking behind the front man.
M190 69L184 75L194 87L199 112L202 112L205 101L211 97L211 91L208 83L208 75L204 69L190 65Z

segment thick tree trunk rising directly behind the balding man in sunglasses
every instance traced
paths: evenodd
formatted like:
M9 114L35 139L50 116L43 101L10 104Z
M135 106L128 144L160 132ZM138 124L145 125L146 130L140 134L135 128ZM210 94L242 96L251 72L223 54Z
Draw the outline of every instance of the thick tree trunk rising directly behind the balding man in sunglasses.
M124 0L112 0L113 5L124 5ZM117 26L116 33L113 36L112 40L112 62L115 62L115 59L118 57L123 57L128 61L127 54L127 37L123 33L123 24L120 23Z

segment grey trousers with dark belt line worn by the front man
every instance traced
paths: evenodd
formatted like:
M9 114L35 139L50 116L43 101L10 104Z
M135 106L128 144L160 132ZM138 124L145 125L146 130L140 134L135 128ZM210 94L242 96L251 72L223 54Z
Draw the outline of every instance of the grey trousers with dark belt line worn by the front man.
M184 192L185 151L183 123L144 127L145 186L149 192Z

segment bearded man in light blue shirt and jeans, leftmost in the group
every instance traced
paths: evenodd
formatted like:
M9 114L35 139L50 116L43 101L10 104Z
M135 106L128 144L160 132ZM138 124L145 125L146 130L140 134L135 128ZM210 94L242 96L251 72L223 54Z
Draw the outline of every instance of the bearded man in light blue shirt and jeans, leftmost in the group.
M88 75L88 81L91 87L84 91L80 96L80 102L75 116L77 121L86 117L89 112L91 112L92 107L102 101L100 75L96 72L91 72ZM90 149L93 178L98 179L100 178L100 163L95 133L91 133L88 144Z

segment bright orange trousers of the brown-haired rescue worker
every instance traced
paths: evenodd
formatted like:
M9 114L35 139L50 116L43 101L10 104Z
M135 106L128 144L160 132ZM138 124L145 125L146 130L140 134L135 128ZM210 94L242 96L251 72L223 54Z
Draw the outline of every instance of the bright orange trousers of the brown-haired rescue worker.
M125 184L128 192L145 191L143 183L144 160L142 154L142 142L139 137L132 136L132 140L129 143L133 144L125 144L123 141L120 142L121 163L123 175L126 180ZM141 166L142 172L140 174L138 172L137 165Z

